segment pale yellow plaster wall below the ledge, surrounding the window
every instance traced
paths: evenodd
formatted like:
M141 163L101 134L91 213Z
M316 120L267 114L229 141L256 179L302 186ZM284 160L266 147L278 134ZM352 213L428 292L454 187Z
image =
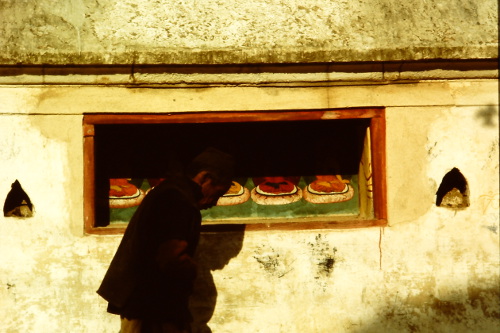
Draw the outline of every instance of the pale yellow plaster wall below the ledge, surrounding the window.
M497 92L469 79L0 87L0 199L18 179L35 205L32 218L0 217L0 331L118 331L95 290L121 236L83 234L83 113L351 106L387 107L390 226L205 235L194 306L217 333L497 331ZM453 167L470 186L461 211L434 203Z

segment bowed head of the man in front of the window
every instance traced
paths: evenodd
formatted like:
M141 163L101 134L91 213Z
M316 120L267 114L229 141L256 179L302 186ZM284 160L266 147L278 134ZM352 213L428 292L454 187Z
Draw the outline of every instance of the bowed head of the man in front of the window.
M210 208L231 187L234 159L215 148L207 148L189 164L186 174L201 187L200 209Z

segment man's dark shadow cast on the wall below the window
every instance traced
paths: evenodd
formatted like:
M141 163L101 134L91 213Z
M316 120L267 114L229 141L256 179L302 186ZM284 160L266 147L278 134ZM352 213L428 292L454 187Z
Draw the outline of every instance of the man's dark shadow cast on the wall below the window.
M193 333L210 333L208 322L212 318L217 303L217 288L212 271L223 269L241 250L244 226L231 232L210 232L200 235L196 261L198 277L191 296Z

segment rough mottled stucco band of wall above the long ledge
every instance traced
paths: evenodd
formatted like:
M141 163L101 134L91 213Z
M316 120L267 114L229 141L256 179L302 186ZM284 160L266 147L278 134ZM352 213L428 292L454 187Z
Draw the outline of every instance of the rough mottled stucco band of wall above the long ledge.
M494 59L495 0L0 1L1 64Z

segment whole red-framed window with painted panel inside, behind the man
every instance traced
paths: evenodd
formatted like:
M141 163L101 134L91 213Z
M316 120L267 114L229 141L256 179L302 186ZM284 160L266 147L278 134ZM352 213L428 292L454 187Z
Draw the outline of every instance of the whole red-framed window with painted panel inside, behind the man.
M208 146L236 177L204 230L386 225L383 108L84 116L85 230L120 233L148 191Z

